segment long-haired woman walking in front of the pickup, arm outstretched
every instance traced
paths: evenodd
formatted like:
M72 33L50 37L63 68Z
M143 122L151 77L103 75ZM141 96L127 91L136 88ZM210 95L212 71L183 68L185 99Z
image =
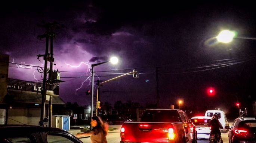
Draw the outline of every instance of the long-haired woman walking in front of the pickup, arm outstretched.
M107 143L107 124L104 124L100 117L94 116L91 120L91 126L93 127L92 130L78 133L76 137L91 136L91 143Z

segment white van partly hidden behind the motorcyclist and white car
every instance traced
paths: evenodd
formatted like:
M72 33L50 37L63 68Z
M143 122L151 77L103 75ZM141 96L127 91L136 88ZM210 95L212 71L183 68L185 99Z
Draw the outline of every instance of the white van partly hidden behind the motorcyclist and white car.
M221 110L207 110L204 114L206 117L212 117L214 114L217 114L219 116L219 122L221 123L223 129L221 130L222 132L227 132L228 130L225 129L225 126L228 125L228 120L226 118L226 115L223 111Z

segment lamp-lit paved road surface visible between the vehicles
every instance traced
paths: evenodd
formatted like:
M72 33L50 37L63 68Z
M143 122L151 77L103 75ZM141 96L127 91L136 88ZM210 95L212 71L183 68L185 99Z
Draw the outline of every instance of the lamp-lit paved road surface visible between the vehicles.
M121 125L111 125L111 127L117 128L117 130L110 131L107 135L108 143L120 143L120 129ZM228 134L221 134L223 143L228 143ZM84 143L90 143L90 137L80 139ZM209 140L198 140L198 143L209 143Z

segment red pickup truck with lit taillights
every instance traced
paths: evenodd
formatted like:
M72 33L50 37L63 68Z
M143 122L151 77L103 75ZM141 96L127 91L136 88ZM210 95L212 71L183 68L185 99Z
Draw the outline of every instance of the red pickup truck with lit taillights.
M141 122L124 123L120 143L197 143L194 124L182 110L145 110Z

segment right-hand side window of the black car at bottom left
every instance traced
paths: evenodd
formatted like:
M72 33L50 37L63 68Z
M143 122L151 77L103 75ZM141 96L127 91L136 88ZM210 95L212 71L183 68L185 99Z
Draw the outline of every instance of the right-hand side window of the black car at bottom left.
M64 137L63 134L48 134L47 135L48 143L74 143L72 140Z

